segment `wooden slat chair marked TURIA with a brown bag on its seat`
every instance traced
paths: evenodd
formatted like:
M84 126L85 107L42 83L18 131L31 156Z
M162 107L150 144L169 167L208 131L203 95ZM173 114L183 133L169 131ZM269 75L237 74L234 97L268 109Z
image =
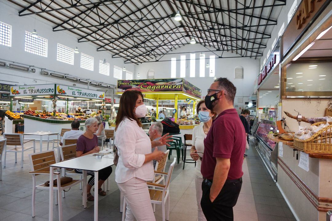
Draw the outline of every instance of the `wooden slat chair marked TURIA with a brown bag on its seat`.
M55 151L54 150L47 150L40 153L33 153L29 155L30 158L30 165L31 165L31 172L32 175L32 217L35 217L35 194L36 189L49 189L49 186L46 186L44 183L37 185L36 184L36 176L40 174L47 174L49 179L49 165L56 163ZM60 173L54 172L53 174L56 175L56 179L58 184L60 183ZM59 204L59 220L62 220L62 206L61 206L61 191L64 189L68 189L74 185L84 182L84 179L80 180L72 180L70 183L63 184L60 186L53 186L53 190L56 190L55 199L56 205ZM84 208L86 207L86 200L82 197L82 203Z

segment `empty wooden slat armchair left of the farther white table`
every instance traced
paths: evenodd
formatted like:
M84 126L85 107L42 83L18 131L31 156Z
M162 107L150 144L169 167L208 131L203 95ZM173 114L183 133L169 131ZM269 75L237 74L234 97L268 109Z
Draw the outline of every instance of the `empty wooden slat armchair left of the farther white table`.
M4 133L3 138L7 139L6 148L5 148L5 158L4 158L4 167L6 167L6 154L7 152L15 153L15 163L17 163L17 153L21 153L21 167L23 167L23 153L31 148L34 148L34 153L36 152L36 143L35 139L24 139L23 134L17 133ZM24 147L28 142L33 141L34 145L32 147ZM8 146L14 146L8 149Z

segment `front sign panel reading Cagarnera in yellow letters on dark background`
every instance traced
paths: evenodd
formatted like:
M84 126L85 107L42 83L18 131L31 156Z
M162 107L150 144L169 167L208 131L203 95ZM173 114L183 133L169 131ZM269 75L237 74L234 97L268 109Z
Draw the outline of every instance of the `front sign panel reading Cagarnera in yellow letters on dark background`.
M182 87L182 78L118 80L118 92L124 92L128 89L139 90L142 93L182 92Z

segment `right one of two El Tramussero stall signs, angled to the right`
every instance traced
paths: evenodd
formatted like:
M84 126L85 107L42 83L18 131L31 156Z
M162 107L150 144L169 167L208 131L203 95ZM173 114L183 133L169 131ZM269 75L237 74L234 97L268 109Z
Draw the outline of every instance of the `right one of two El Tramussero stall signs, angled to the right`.
M56 94L64 96L73 96L80 98L90 98L90 99L105 99L105 94L102 91L94 91L84 88L76 88L67 85L56 85Z

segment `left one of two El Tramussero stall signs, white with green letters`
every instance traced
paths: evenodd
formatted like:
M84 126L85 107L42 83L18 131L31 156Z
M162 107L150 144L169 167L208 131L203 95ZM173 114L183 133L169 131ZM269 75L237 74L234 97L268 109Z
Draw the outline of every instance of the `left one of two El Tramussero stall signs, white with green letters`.
M21 85L10 88L11 96L53 95L54 84Z

